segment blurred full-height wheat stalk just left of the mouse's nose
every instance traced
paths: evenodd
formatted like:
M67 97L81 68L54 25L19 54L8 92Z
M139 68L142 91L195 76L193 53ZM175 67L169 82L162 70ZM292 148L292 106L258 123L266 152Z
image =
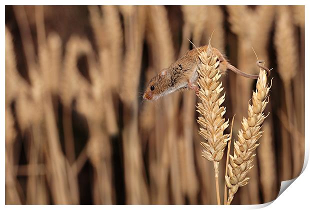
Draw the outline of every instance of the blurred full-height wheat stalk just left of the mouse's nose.
M142 44L145 28L145 6L121 6L124 18L125 66L120 87L123 102L122 130L126 202L145 204L149 202L144 166L138 135L137 88L140 75Z

